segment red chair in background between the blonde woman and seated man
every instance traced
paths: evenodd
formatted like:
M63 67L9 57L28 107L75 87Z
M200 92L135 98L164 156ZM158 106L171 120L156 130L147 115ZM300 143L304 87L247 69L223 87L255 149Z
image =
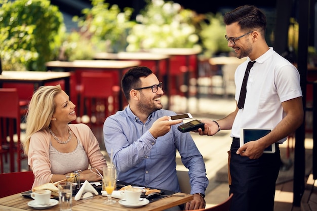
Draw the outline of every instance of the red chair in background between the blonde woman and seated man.
M120 87L114 85L111 72L82 72L80 92L80 115L84 109L90 122L103 123L105 118L118 110ZM95 119L93 118L95 117Z

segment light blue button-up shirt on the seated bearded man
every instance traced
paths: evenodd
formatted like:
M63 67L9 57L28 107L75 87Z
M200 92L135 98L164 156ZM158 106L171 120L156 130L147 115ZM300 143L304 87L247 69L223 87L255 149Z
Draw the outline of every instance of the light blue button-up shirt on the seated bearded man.
M155 139L149 129L162 116L176 113L157 110L143 124L128 106L109 116L103 125L104 143L117 169L117 180L142 186L179 192L176 175L176 150L189 170L191 194L205 193L209 184L203 156L189 133L181 133L176 125Z

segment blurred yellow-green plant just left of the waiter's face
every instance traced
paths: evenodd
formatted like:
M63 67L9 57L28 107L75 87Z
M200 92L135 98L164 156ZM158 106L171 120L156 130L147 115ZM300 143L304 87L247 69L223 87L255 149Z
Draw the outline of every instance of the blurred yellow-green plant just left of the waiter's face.
M206 21L201 22L200 37L206 57L216 53L231 51L224 35L226 34L223 16L220 13L206 14Z

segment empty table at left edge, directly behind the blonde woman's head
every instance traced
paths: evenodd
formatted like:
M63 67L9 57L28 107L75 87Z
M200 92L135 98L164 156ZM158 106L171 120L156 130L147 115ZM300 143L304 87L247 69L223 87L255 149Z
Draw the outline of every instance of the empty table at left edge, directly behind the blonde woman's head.
M2 83L33 83L34 90L44 86L46 82L65 81L65 92L69 93L69 72L46 72L46 71L3 71L0 75L0 87Z

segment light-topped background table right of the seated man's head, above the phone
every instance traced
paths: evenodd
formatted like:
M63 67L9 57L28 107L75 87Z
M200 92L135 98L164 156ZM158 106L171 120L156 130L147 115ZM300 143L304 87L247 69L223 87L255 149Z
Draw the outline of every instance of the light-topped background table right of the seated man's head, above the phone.
M199 78L199 68L198 68L198 55L202 52L200 49L194 49L194 48L152 48L147 50L150 53L156 53L156 54L165 54L169 55L171 57L173 56L184 56L186 59L186 64L185 66L189 69L190 66L190 57L194 56L195 57L195 66L194 66L194 74L195 74L195 79L197 80ZM171 60L171 58L170 58ZM170 68L168 68L169 70ZM169 72L167 73L169 74ZM168 77L170 78L170 77ZM187 86L187 92L185 93L186 98L189 98L189 72L187 71L185 74L185 82ZM168 90L170 90L170 82L167 81L168 83ZM199 97L199 91L198 91L198 82L196 81L196 98ZM169 100L170 102L170 100ZM187 101L188 104L188 101ZM188 106L186 106L186 111L188 111ZM168 106L170 107L170 105Z

